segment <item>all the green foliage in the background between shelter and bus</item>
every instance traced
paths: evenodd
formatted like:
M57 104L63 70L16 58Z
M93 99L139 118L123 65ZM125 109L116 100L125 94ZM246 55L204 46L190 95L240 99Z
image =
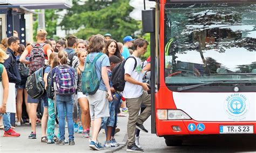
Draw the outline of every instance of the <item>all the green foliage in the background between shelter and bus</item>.
M92 34L110 33L112 38L122 42L126 35L133 38L143 37L150 40L149 34L142 33L141 21L136 21L129 16L133 10L129 0L95 1L73 0L71 9L66 9L65 14L60 14L63 9L45 10L45 28L48 38L59 39L56 27L60 26L66 35L73 34L80 39L88 39ZM58 19L61 19L57 23ZM38 17L35 17L34 36L38 27ZM75 33L74 33L75 31ZM34 37L35 38L35 37ZM150 55L150 47L143 60Z

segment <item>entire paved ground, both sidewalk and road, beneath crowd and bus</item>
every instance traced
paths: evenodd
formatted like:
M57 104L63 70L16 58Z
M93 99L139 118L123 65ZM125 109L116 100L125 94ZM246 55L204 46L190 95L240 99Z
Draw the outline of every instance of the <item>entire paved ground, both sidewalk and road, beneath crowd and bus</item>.
M119 117L118 127L121 131L116 135L116 140L121 143L121 148L111 148L96 152L126 152L124 145L126 140L127 117ZM150 130L150 119L144 123ZM56 128L57 129L57 128ZM66 132L67 132L66 128ZM56 130L57 131L57 130ZM30 133L29 126L17 128L21 137L2 137L0 136L0 153L11 152L95 152L89 149L88 139L84 139L80 134L75 134L76 145L59 146L55 144L41 143L41 127L37 126L36 140L28 139ZM3 132L2 132L3 133ZM2 135L1 133L1 135ZM66 135L67 136L67 135ZM181 147L167 147L163 137L157 137L155 134L141 133L140 143L145 152L256 152L256 137L214 137L211 139L201 139L197 141L185 141ZM105 141L105 134L99 134L99 142ZM115 149L118 149L116 151Z

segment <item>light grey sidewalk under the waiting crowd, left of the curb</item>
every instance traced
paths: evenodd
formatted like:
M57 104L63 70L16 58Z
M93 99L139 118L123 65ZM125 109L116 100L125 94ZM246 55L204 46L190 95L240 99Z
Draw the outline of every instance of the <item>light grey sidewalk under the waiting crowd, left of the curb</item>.
M128 114L127 114L128 116ZM115 139L120 144L119 147L105 149L96 152L113 152L125 145L124 137L127 131L127 118L128 117L118 117L118 128L120 132L116 134ZM75 133L75 145L56 145L47 144L41 142L41 125L37 125L37 139L28 139L31 133L31 127L29 125L22 125L21 127L16 127L15 131L21 133L20 137L3 137L3 131L0 132L0 152L1 153L11 153L11 152L95 152L89 149L89 139L83 138L82 134ZM55 128L55 134L58 132L58 127ZM65 137L68 137L68 128L65 128ZM99 133L99 142L104 144L105 134L102 130ZM126 139L125 139L126 141Z

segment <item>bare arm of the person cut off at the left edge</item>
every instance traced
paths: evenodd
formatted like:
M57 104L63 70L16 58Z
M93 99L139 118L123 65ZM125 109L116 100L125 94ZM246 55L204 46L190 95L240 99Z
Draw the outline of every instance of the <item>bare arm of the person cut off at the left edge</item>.
M2 106L0 106L0 113L5 113L8 94L9 94L9 80L8 80L8 75L5 68L3 69L3 73L2 73L2 84L3 84L4 93L3 93L3 103L2 103Z

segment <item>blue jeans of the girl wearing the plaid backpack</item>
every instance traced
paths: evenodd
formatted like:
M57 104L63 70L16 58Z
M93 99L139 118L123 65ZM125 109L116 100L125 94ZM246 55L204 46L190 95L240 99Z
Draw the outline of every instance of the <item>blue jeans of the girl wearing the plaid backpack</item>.
M56 96L56 104L59 116L59 139L65 140L65 110L68 121L69 141L74 140L74 122L73 122L73 103L74 95Z

